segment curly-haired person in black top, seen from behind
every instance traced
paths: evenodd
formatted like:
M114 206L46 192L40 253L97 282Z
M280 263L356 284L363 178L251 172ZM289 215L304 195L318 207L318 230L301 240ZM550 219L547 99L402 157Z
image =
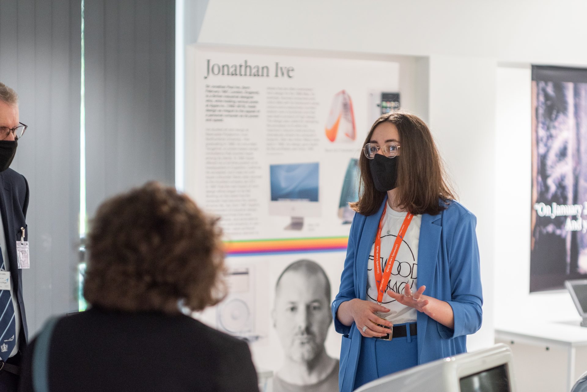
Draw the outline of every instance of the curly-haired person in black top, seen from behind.
M104 202L87 243L90 309L45 326L20 390L258 392L247 343L187 316L226 292L217 220L157 183Z

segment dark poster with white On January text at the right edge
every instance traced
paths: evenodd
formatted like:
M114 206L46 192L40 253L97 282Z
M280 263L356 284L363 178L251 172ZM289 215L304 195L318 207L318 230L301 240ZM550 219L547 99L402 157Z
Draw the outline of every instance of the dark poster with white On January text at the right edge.
M587 69L532 67L530 291L587 275Z

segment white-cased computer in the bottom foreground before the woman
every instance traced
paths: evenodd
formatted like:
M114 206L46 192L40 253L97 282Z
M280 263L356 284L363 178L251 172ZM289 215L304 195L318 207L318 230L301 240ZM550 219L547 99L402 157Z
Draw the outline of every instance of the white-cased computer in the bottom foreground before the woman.
M516 392L505 344L459 354L382 377L355 392Z

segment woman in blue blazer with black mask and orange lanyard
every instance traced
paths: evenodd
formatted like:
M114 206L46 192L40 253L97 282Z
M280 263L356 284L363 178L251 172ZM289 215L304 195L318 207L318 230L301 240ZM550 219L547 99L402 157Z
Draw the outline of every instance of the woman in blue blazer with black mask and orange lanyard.
M341 392L465 352L482 318L477 221L454 201L424 121L381 116L359 167L357 214L332 303L343 335Z

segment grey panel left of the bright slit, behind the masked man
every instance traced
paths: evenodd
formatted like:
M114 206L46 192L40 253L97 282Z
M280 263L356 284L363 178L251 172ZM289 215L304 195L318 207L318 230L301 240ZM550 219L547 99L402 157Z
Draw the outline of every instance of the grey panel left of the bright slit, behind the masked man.
M12 168L29 181L31 269L23 271L29 335L75 310L79 246L78 0L0 1L0 80L29 129Z

